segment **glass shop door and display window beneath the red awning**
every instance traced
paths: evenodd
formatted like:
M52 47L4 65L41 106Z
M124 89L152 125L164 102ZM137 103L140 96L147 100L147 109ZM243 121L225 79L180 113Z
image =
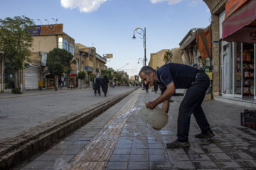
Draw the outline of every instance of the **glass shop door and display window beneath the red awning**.
M222 42L223 96L255 98L255 44Z

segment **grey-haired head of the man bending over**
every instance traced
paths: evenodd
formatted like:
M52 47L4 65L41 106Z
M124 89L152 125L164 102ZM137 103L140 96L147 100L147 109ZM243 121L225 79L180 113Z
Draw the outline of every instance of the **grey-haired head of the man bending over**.
M156 77L156 70L149 66L144 66L139 71L139 77L142 79L144 84L154 85L154 82L158 81Z

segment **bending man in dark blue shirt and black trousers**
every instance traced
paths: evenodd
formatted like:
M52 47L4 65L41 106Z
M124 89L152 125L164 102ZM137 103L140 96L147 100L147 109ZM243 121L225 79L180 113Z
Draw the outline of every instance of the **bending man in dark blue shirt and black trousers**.
M161 90L161 96L146 103L146 108L153 109L159 103L163 103L162 110L168 113L169 98L174 95L175 89L188 89L178 110L178 139L167 143L166 147L189 147L188 132L192 113L201 128L201 133L195 137L214 136L201 107L206 90L210 85L210 79L206 73L188 65L169 63L157 71L148 66L142 67L139 76L145 84L154 85L154 82L157 82Z

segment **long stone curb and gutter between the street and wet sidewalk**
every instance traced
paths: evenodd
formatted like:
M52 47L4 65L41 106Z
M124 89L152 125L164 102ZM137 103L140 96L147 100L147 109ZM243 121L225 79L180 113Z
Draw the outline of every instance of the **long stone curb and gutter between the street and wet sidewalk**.
M0 140L0 169L10 169L33 154L48 149L70 132L80 128L96 115L103 113L136 90L132 89L119 96L114 96L87 108L50 120L47 123L23 131L15 137Z

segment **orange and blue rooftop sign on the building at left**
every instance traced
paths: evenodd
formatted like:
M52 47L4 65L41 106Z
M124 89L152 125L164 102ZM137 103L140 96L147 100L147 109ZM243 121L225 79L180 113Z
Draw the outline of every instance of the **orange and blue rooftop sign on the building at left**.
M63 24L35 26L29 30L31 35L58 35L63 33Z

